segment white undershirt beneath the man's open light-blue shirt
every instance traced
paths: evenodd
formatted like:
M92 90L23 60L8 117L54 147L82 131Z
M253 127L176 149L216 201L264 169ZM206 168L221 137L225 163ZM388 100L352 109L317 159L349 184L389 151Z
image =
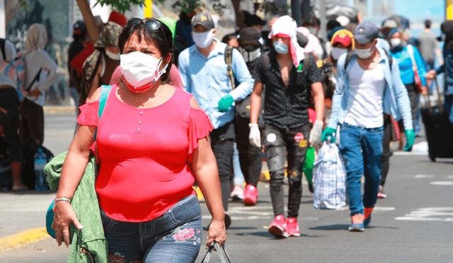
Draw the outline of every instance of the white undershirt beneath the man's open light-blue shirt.
M385 89L384 70L379 65L365 70L355 62L348 72L349 94L345 123L362 128L384 125L382 97Z

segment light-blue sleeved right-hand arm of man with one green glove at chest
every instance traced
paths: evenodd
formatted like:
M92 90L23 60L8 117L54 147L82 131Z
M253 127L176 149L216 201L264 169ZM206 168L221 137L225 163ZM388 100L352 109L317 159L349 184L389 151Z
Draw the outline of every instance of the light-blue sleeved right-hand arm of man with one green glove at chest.
M250 95L253 91L253 83L255 82L252 78L252 75L248 71L248 67L246 62L243 60L241 53L238 50L233 50L233 57L232 57L232 69L233 74L240 83L236 86L236 89L229 92L231 97L233 97L234 101L241 101L242 99L246 99L248 95Z

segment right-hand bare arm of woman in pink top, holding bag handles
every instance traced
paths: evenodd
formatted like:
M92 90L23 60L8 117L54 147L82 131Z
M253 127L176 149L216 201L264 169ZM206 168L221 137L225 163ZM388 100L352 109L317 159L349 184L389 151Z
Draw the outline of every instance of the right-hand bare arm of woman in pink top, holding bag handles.
M193 98L191 104L193 108L200 108ZM205 196L207 209L212 216L206 246L209 247L214 240L222 246L226 239L225 213L222 204L219 172L211 149L209 135L198 140L198 147L193 152L190 168L195 175L203 196Z

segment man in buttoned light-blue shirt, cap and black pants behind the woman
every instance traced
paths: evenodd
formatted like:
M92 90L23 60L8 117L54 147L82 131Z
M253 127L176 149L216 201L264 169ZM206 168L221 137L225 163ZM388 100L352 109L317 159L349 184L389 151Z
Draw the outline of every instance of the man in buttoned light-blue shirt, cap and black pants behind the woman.
M195 45L180 53L178 69L184 90L193 94L214 125L210 133L211 147L217 160L226 211L231 192L229 174L235 140L234 101L241 101L251 94L254 81L243 57L234 49L231 69L239 85L231 87L224 55L226 44L214 38L214 21L209 14L194 16L192 28ZM228 216L225 218L228 227Z

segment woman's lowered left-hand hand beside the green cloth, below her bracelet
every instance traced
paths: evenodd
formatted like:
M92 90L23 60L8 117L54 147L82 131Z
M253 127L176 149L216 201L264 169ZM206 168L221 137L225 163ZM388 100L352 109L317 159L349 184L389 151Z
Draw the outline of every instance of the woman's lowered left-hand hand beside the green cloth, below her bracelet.
M84 228L79 220L77 219L76 213L71 207L71 204L66 201L55 202L54 211L54 222L52 223L52 229L55 230L55 237L57 239L58 246L62 245L62 242L69 246L69 225L74 224L78 229Z

